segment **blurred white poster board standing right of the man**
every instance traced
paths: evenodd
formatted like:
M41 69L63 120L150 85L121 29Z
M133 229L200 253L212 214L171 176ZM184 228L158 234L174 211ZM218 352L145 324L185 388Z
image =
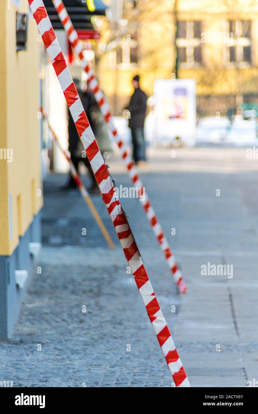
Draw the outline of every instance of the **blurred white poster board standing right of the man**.
M158 79L154 82L154 112L157 140L176 137L195 144L196 95L194 79Z

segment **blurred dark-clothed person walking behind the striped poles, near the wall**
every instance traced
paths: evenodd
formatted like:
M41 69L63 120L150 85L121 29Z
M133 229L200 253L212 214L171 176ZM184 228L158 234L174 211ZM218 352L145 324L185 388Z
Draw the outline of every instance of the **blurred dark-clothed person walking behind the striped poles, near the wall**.
M109 137L109 131L104 121L103 116L99 110L98 104L96 103L96 99L94 98L94 94L89 90L82 92L80 89L80 81L78 79L74 79L75 87L78 91L80 99L82 100L82 105L86 116L89 120L89 125L92 128L92 132L96 138L96 141L99 145L99 149L101 154L105 152L111 152L111 141ZM82 145L82 141L80 140L80 136L77 132L75 123L72 119L72 116L69 111L69 120L68 120L68 134L69 134L69 151L71 153L71 160L74 164L76 170L78 171L78 166L80 161L82 161L89 171L89 175L91 178L91 185L87 189L89 193L99 193L99 187L96 182L96 178L94 176L94 172L92 170L92 166L89 162L89 159L85 153L84 147ZM65 185L64 189L69 188L76 188L77 185L70 175L69 182Z

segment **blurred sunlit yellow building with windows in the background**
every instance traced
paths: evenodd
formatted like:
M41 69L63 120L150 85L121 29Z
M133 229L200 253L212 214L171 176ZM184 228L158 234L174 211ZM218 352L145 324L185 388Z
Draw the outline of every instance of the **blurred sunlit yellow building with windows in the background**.
M176 72L195 79L200 116L258 101L257 2L121 0L120 9L119 0L115 3L120 14L103 30L102 39L109 41L97 73L116 115L133 91L136 73L148 95L155 79L173 78Z

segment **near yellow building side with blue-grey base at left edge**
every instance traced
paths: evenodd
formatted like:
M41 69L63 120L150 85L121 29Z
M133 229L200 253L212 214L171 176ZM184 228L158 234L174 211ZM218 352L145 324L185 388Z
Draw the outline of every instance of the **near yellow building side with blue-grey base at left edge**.
M27 0L1 1L0 16L0 339L6 339L40 247L43 196L38 29Z

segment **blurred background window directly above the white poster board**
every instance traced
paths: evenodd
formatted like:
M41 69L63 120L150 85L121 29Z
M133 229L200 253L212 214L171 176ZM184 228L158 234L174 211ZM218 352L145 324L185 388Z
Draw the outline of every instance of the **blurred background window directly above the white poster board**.
M202 65L202 22L178 20L176 46L182 68Z

